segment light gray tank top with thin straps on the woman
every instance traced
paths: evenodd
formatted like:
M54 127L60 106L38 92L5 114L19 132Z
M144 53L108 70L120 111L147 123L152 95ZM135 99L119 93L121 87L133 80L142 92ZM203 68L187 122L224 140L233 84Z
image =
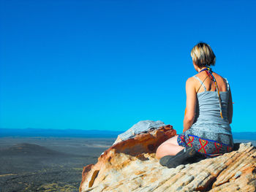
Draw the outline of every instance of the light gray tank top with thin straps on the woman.
M227 91L219 92L222 101L223 118L221 118L217 91L206 91L206 86L203 82L197 76L194 75L193 77L200 81L204 91L197 93L195 120L191 128L199 129L197 131L231 135L230 123L227 119L227 104L230 92L230 86L227 79L225 79L227 82Z

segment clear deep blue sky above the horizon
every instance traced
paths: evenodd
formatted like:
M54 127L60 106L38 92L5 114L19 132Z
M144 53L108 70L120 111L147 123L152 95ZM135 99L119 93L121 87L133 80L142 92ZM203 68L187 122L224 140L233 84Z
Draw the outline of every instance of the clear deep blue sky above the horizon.
M233 131L256 131L256 1L1 1L1 128L182 131L190 50L211 45Z

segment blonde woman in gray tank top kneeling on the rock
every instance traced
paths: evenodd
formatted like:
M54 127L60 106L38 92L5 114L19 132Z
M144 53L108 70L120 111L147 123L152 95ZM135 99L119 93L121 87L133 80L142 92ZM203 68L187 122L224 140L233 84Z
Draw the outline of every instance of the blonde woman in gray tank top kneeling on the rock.
M160 164L168 168L183 164L198 153L213 157L233 149L230 85L227 79L211 70L216 58L208 44L198 43L190 55L198 73L186 82L183 133L167 139L156 153Z

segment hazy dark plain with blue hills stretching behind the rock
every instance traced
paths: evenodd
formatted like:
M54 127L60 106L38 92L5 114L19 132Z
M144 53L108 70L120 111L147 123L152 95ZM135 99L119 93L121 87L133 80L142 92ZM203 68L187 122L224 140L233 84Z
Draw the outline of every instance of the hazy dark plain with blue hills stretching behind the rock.
M0 191L78 191L83 166L95 164L118 134L105 132L103 138L104 133L91 131L86 137L66 130L61 131L61 137L53 133L55 137L50 137L48 130L44 132L47 137L43 137L38 130L28 132L29 137L24 132L22 136L12 132L11 137L0 131ZM235 138L235 142L252 142L256 146L252 133L250 139L244 139L246 134L238 135L243 137Z

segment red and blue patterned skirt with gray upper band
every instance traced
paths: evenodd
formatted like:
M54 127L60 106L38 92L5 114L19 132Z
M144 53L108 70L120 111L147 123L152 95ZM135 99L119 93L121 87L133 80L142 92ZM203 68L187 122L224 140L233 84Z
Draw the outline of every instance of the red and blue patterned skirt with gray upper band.
M217 134L187 130L178 135L178 145L194 147L197 153L208 158L223 155L233 150L233 137L229 134Z

